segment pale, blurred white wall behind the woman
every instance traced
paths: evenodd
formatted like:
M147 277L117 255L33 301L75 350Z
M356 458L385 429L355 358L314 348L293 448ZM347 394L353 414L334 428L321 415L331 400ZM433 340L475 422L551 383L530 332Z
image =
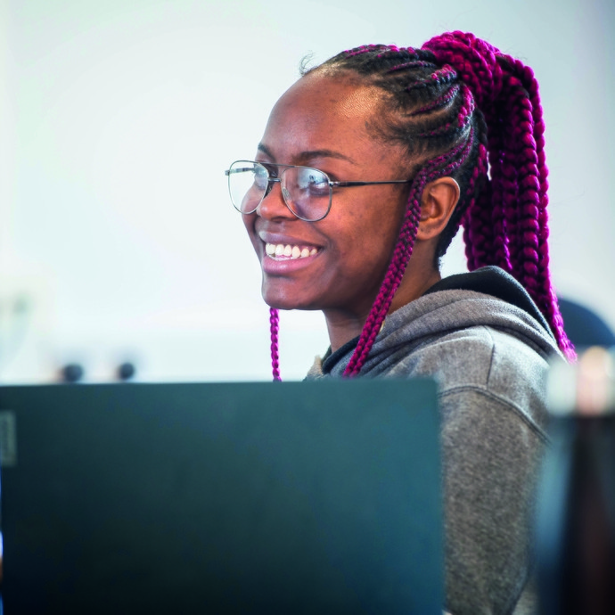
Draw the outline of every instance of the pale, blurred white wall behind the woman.
M553 280L615 326L612 0L0 0L0 381L267 380L268 309L224 170L299 76L471 31L531 66ZM445 274L463 271L459 240ZM281 314L282 376L328 346Z

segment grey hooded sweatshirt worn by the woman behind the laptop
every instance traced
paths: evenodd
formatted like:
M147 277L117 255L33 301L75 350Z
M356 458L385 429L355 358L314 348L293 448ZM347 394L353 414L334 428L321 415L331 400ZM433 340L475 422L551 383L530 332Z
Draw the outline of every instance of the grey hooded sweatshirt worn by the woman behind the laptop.
M324 362L316 357L307 378L340 377L354 345ZM453 615L511 613L528 583L553 354L550 332L519 307L479 292L439 291L387 317L361 372L439 381Z

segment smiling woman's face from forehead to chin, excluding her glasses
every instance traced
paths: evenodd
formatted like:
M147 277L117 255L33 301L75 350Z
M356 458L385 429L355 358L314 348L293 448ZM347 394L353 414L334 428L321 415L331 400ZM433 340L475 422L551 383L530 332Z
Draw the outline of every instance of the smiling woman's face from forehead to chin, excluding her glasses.
M332 181L407 179L401 149L367 128L379 102L373 87L309 74L275 104L256 160L319 168ZM243 216L266 303L366 316L389 265L407 193L408 184L334 188L329 214L306 222L291 213L274 184L258 209ZM275 255L276 248L288 252L286 246L291 257Z

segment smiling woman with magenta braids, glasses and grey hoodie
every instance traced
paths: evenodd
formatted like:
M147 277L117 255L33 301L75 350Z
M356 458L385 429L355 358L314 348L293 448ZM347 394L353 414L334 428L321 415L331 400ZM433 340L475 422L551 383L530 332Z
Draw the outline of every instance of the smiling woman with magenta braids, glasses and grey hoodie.
M310 379L439 381L455 614L512 612L528 585L547 362L574 357L548 271L543 133L532 71L453 32L309 70L256 160L227 171L272 309L275 379L282 308L324 312L331 348ZM462 224L471 273L441 279Z

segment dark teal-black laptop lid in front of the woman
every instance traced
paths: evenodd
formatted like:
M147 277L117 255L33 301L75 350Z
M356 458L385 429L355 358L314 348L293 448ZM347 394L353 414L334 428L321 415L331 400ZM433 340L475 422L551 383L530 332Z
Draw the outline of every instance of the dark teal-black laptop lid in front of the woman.
M442 612L433 381L0 388L5 615Z

